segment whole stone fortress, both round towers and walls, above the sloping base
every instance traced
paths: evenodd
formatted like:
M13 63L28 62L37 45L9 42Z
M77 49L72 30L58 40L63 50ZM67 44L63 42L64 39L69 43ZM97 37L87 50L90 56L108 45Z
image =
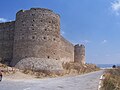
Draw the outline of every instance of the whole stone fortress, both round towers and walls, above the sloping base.
M30 57L85 64L85 46L61 36L60 16L52 10L20 10L15 21L0 23L0 60L15 66Z

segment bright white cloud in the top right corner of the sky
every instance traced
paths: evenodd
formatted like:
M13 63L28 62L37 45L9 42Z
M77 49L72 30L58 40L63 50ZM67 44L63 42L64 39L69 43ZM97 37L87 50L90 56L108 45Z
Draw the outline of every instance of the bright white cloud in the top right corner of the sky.
M114 2L112 2L111 8L116 15L120 15L120 0L115 0Z

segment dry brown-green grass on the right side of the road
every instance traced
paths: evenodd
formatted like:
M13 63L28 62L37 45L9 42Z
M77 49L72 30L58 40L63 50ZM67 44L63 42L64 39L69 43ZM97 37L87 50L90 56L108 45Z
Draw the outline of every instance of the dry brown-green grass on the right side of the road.
M120 68L106 70L102 90L120 90Z

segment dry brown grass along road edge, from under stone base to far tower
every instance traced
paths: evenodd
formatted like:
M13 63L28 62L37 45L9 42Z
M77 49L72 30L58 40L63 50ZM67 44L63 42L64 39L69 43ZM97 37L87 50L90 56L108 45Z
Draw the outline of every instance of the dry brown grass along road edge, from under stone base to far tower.
M65 63L63 64L64 71L60 72L49 72L49 71L32 71L32 70L22 70L23 73L34 75L36 78L44 78L44 77L58 77L58 76L65 76L65 75L78 75L84 74L92 71L100 70L94 64L85 64L82 65L80 63Z

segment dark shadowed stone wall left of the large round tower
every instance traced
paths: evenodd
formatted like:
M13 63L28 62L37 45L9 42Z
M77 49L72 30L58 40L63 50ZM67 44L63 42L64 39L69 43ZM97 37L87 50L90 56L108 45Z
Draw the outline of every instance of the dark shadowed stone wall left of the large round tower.
M9 64L13 58L15 22L0 23L0 59Z

